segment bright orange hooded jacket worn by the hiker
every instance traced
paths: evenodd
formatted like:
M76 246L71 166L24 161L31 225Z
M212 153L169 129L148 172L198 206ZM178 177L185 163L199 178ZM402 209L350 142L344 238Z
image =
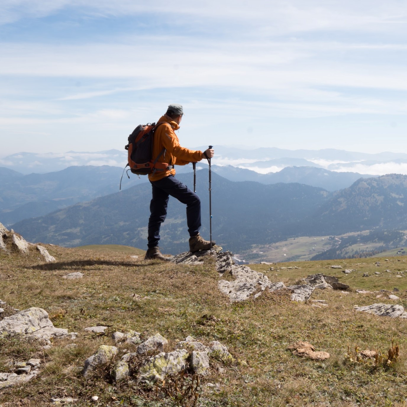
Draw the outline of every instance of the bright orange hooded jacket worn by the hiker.
M153 140L153 156L155 160L160 154L162 148L165 148L165 153L158 159L159 162L166 162L169 165L186 165L190 162L198 162L202 160L202 151L188 150L179 145L179 140L174 130L179 129L179 125L175 123L169 116L164 114L157 123L165 122L157 127L154 133ZM164 171L162 173L149 174L150 181L158 181L169 175L175 175L175 169Z

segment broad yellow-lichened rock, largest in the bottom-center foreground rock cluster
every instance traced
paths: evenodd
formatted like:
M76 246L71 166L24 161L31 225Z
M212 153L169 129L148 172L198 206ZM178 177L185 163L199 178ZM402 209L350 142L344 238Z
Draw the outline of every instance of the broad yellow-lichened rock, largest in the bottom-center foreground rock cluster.
M174 352L161 352L152 356L141 366L140 380L163 381L166 375L174 375L186 369L188 352L185 349Z

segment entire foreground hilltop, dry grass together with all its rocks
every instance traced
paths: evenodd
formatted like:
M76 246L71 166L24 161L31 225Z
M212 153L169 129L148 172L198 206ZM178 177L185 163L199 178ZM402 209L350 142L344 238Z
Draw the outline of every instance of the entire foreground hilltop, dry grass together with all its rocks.
M162 263L0 236L1 407L405 404L402 258Z

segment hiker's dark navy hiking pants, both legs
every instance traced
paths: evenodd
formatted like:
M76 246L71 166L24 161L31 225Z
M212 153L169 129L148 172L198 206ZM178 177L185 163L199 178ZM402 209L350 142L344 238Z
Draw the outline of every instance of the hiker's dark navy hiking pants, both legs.
M160 240L160 227L167 216L167 205L170 195L186 204L186 223L190 236L196 236L201 228L201 201L199 196L173 175L150 181L153 187L153 199L150 202L149 248L157 247Z

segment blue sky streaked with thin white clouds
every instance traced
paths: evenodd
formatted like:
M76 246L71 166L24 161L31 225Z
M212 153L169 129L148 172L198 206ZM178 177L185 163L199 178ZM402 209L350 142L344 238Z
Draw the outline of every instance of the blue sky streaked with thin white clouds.
M0 157L123 149L174 102L185 147L405 151L406 51L400 0L2 0Z

